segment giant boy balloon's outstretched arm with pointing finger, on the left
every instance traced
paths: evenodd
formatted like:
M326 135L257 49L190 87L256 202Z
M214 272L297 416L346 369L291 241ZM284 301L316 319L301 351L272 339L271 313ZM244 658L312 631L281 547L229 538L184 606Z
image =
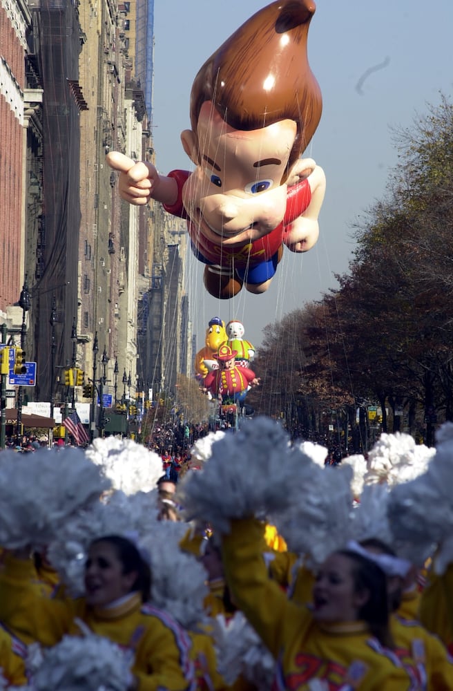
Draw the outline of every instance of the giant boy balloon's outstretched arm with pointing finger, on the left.
M136 163L119 151L110 151L106 155L106 161L110 168L119 172L119 194L129 204L140 206L150 199L162 204L175 204L176 180L160 175L152 163Z

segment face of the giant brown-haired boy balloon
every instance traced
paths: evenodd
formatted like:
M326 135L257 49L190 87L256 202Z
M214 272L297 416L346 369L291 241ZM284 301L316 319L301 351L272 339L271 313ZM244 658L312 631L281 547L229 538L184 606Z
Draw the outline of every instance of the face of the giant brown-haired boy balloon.
M296 137L296 123L235 130L211 102L197 126L200 164L182 201L191 220L214 245L242 245L269 234L285 216L287 185L281 180Z

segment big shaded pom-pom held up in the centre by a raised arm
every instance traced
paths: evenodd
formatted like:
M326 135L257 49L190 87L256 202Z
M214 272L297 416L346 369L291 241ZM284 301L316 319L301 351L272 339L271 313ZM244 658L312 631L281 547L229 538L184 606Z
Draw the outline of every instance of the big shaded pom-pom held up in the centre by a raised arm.
M302 459L310 462L289 447L280 425L257 417L215 442L201 471L187 473L178 485L180 503L190 519L206 520L216 531L227 532L231 518L262 517L285 507Z

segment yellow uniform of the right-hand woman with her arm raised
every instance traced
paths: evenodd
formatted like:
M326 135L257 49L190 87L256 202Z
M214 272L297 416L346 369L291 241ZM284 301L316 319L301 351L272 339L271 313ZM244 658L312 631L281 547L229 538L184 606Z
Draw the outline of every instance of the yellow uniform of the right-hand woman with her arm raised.
M309 681L329 691L406 691L409 675L396 656L372 638L364 622L320 625L287 599L267 574L260 522L235 520L222 547L233 599L277 661L276 689L306 690Z

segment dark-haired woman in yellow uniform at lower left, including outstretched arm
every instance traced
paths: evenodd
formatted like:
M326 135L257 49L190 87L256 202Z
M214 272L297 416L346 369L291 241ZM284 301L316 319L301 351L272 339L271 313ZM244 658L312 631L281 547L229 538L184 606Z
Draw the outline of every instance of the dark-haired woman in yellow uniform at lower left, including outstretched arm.
M83 598L50 600L32 586L32 560L8 553L0 572L0 620L24 643L50 646L80 623L133 656L128 691L183 691L193 678L190 641L168 614L148 603L150 569L132 540L109 535L88 549Z

